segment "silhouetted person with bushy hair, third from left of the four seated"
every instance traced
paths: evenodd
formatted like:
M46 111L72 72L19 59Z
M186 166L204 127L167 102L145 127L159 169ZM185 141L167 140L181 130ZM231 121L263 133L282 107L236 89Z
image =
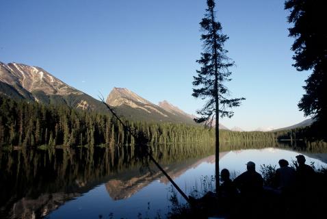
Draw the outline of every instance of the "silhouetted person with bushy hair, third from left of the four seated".
M296 181L296 171L289 166L289 162L286 159L280 159L278 161L280 168L276 170L276 187L281 193L289 193L294 188Z

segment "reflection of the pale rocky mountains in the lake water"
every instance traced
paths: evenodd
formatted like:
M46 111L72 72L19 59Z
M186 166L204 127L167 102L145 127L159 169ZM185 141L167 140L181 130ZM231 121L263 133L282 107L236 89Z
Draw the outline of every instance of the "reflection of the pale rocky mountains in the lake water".
M219 155L221 159L229 153L228 151L222 152ZM183 175L189 169L196 168L202 163L215 163L215 155L204 157L201 159L190 159L184 162L178 162L174 164L163 165L164 170L168 172L168 175L172 179L176 179ZM136 192L142 190L152 181L159 179L161 183L169 183L168 179L157 169L155 166L151 167L153 173L146 172L142 174L139 170L131 170L129 172L120 172L118 175L113 176L112 179L105 183L105 188L109 193L109 196L114 200L120 200L131 197Z

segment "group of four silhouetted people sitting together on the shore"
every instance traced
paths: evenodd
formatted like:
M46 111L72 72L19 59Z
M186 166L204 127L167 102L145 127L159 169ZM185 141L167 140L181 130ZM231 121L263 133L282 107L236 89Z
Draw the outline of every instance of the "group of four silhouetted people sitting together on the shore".
M307 199L310 194L315 171L305 164L304 155L297 155L296 159L294 167L289 166L285 159L279 160L280 167L272 177L271 185L264 185L263 177L256 171L254 162L248 162L247 170L233 181L229 171L222 169L222 184L217 193L209 192L197 201L211 203L211 206L218 202L218 209L222 214L231 214L236 206L239 214L250 214L248 216L251 217L259 214L266 200L270 201L270 205L271 201L275 200L273 205L279 206L279 209L287 208L292 198L296 198L298 203L305 203L302 199Z

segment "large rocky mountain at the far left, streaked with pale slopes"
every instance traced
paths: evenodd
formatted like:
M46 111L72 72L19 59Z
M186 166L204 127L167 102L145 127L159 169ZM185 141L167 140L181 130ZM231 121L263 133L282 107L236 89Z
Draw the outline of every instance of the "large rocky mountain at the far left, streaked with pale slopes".
M57 79L43 68L0 62L0 95L82 110L106 110L103 103Z

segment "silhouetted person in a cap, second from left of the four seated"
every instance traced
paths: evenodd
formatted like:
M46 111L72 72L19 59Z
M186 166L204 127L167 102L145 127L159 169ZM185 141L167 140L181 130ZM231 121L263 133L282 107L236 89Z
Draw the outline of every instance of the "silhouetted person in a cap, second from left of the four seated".
M241 196L257 198L263 192L263 178L255 170L254 162L246 164L247 171L234 179L236 187L241 191Z

